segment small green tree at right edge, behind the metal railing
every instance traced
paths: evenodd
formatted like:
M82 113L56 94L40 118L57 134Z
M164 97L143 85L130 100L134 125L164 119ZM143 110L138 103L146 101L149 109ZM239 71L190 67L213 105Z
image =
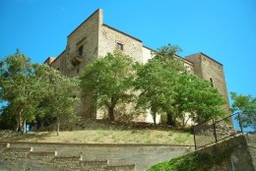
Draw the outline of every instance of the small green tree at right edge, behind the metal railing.
M242 127L256 131L256 98L251 95L238 95L235 92L230 92L230 95L233 100L231 111L240 113Z

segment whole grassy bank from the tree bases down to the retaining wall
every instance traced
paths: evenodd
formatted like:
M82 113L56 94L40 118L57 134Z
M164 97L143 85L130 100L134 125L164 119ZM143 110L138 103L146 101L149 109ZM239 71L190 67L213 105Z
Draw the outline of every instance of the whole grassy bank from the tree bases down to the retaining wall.
M146 123L87 121L72 126L63 124L61 130L59 136L54 132L54 125L26 135L1 131L0 141L194 144L193 135L187 131Z

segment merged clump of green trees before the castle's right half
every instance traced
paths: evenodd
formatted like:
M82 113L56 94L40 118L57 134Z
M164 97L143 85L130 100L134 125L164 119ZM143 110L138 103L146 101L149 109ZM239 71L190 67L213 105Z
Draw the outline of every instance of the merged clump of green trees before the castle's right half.
M155 123L157 113L165 113L172 126L176 119L185 127L189 119L202 121L224 115L222 95L208 82L191 75L175 56L178 51L178 46L168 44L147 64L137 65L137 105L150 108Z

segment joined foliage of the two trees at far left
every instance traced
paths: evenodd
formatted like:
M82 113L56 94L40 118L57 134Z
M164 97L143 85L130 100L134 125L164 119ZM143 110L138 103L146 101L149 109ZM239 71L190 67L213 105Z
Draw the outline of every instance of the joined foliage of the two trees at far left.
M0 97L7 101L1 121L16 119L18 131L24 133L26 122L45 117L46 113L57 118L74 113L77 80L66 78L48 66L32 64L20 52L4 58L0 72Z

